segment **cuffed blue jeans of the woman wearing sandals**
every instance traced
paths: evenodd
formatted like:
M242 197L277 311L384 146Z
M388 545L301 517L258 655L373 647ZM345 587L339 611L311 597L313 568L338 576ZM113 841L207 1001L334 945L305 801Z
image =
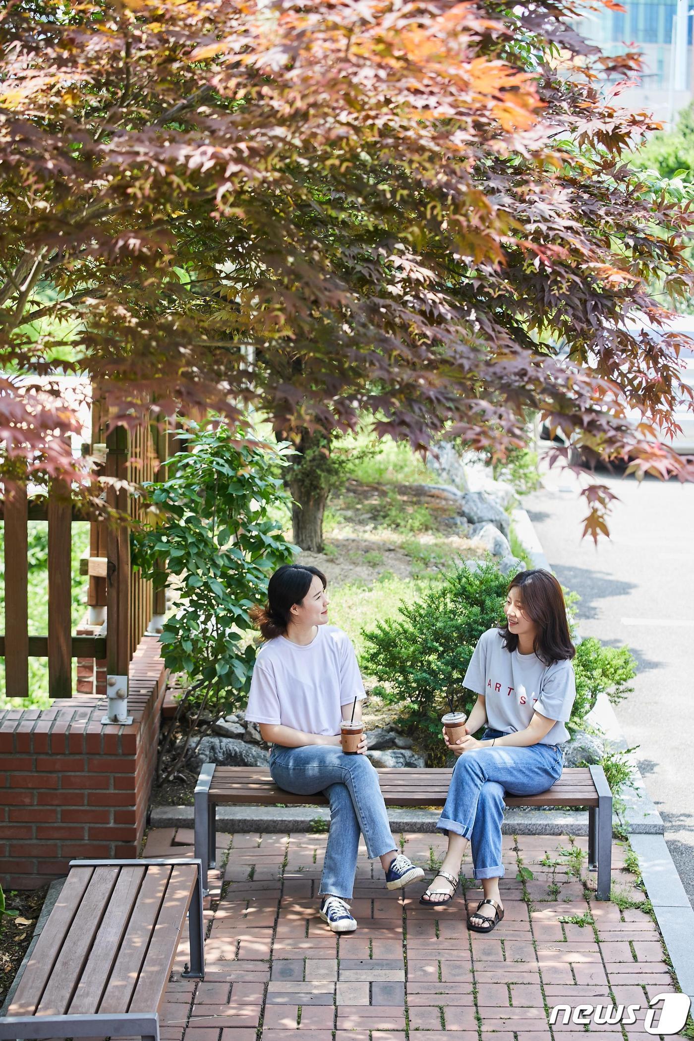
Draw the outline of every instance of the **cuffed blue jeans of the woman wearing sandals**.
M484 739L502 737L487 730ZM437 828L470 840L475 879L500 879L504 794L538 795L562 776L561 744L464 752L458 757Z

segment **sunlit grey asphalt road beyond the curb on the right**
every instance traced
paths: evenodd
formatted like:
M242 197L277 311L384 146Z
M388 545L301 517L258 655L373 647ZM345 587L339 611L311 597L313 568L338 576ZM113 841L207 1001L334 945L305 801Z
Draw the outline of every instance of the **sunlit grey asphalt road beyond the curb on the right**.
M694 907L694 485L639 484L602 469L619 497L610 539L582 540L587 513L571 475L544 474L525 498L549 563L581 595L582 636L626 644L639 672L616 706L622 733L665 822L665 839Z

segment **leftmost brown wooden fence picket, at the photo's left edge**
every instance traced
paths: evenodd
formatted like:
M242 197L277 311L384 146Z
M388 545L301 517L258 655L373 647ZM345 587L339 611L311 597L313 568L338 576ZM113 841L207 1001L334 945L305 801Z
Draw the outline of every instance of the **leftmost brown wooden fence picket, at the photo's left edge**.
M5 689L29 696L28 538L24 481L5 481Z

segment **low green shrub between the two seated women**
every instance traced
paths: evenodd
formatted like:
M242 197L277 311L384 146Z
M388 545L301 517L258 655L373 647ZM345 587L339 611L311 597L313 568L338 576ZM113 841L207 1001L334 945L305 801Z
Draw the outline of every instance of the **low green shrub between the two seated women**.
M508 579L489 563L456 564L420 600L402 601L397 615L364 631L364 671L380 681L374 692L399 706L397 721L416 734L430 765L441 762L441 715L451 706L470 711L475 695L463 677L482 634L504 617Z

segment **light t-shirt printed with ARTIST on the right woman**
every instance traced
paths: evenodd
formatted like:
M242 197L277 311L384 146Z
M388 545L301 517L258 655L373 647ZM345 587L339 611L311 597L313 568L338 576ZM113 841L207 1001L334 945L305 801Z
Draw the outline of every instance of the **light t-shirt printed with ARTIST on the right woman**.
M576 695L569 660L545 665L536 654L507 651L498 629L488 629L478 640L463 685L484 694L487 721L506 734L525 730L535 711L557 722L539 742L567 741L564 726L571 717Z

